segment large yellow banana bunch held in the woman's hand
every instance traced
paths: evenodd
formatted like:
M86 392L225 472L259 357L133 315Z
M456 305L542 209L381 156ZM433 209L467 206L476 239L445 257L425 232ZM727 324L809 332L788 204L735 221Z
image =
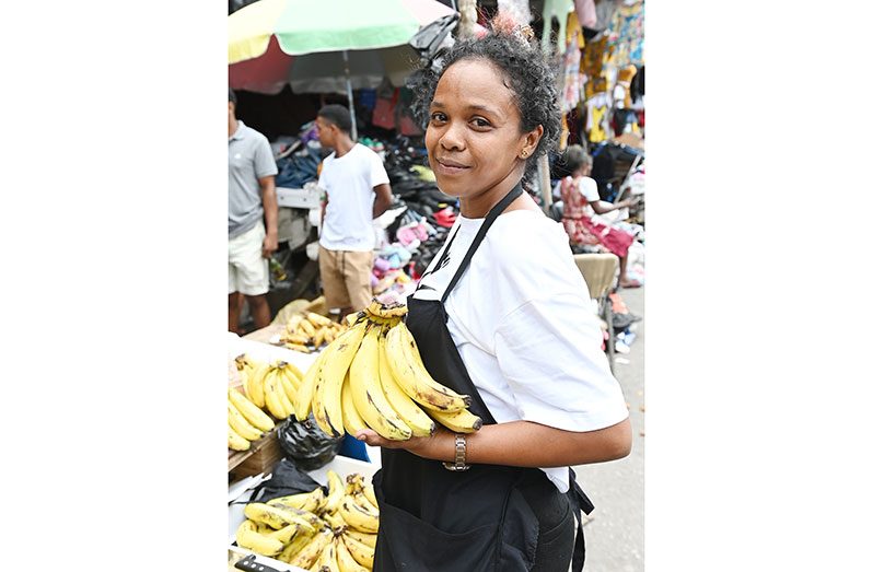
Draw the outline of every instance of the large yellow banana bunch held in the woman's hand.
M385 439L432 435L435 423L472 433L482 420L470 398L433 380L403 322L406 306L376 301L349 318L349 329L325 348L306 371L294 416L312 411L325 433L338 437L370 428Z

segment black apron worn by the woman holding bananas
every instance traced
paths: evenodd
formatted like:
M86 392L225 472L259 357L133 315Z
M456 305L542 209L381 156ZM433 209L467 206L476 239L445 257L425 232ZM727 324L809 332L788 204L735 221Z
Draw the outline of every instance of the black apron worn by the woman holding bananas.
M408 300L406 324L428 372L469 395L469 410L484 424L496 421L452 340L443 303L488 229L521 194L517 185L488 212L442 300ZM435 268L450 247L451 241ZM573 571L582 570L585 545L580 512L587 514L594 506L572 469L570 493L564 494L537 468L472 465L466 471L451 471L439 460L383 448L382 469L373 485L380 507L374 572L566 572L571 552ZM575 544L573 515L579 518ZM555 562L563 565L556 568Z

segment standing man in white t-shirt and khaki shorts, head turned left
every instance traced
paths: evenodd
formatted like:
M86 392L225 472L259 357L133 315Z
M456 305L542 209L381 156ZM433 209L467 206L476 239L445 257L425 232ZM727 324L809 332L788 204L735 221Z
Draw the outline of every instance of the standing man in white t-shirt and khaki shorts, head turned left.
M339 310L341 319L363 310L373 296L373 219L385 212L393 199L382 159L351 139L351 115L346 107L322 107L315 124L322 147L334 150L318 176L318 186L327 194L318 269L327 307Z

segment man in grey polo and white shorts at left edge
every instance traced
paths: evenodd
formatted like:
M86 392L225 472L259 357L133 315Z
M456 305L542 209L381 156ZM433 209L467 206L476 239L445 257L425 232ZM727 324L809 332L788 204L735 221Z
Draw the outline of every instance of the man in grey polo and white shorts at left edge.
M237 332L242 296L260 329L270 324L268 259L279 246L276 161L267 138L236 119L228 90L228 329Z

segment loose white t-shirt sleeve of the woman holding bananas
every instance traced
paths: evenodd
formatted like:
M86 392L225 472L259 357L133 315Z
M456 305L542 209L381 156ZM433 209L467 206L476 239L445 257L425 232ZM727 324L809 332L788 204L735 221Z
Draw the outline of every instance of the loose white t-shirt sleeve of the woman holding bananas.
M566 431L594 431L626 419L602 340L581 293L533 300L501 319L494 350L521 418Z

